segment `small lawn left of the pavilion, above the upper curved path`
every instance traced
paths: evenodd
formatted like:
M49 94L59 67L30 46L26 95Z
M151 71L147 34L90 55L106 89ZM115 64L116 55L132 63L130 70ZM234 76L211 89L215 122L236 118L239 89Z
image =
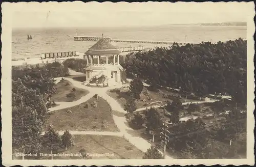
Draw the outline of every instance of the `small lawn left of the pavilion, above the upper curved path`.
M53 101L76 101L89 93L87 90L74 87L68 80L58 82L56 88L56 93L51 97ZM73 88L75 88L75 91L72 90ZM70 96L67 96L68 94Z

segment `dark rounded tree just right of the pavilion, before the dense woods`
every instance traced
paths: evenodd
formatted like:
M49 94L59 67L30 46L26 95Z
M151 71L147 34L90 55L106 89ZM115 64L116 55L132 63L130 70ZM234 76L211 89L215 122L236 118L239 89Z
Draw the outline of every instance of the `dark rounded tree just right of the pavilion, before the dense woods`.
M138 77L134 78L130 82L131 95L134 96L136 99L140 99L140 93L142 92L143 87L144 86L141 79L139 79Z

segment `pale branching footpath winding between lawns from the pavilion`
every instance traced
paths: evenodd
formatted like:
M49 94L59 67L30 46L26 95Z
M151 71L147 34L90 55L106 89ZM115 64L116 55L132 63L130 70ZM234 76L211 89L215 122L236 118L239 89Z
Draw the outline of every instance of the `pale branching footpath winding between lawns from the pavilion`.
M55 78L56 82L60 80L60 78ZM123 108L120 106L120 104L112 97L110 97L108 94L106 94L106 91L114 88L120 88L122 85L119 86L113 86L113 87L106 87L106 88L91 88L91 87L86 87L84 85L81 85L81 82L75 81L72 78L65 78L72 82L72 84L81 89L86 89L90 91L89 94L81 97L77 101L73 102L56 102L56 104L60 104L59 106L52 107L49 109L49 112L53 112L55 110L67 108L67 107L72 107L75 105L79 105L83 102L86 102L89 100L91 97L93 97L95 94L98 94L98 96L101 96L103 99L105 99L110 106L112 107L112 110L114 111L113 113L113 119L115 121L116 126L120 130L120 132L89 132L89 131L71 131L71 134L99 134L99 135L117 135L117 136L123 136L127 141L132 143L135 147L137 147L139 150L142 152L146 152L147 149L151 147L151 144L148 143L144 138L133 134L133 132L136 132L134 129L130 128L129 125L127 124L127 121L124 117L124 114L126 113ZM63 132L59 132L62 134ZM160 151L160 150L159 150ZM160 151L161 152L161 151ZM166 155L166 159L173 159L172 157Z

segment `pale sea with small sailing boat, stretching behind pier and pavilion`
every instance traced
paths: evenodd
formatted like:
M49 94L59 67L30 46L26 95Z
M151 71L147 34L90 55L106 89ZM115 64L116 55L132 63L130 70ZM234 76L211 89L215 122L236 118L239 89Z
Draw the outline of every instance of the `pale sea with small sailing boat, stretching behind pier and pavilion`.
M166 42L218 42L246 38L246 26L161 25L148 27L54 27L12 30L12 59L40 57L42 53L86 52L96 41L74 41L74 36ZM32 40L27 40L27 35ZM161 44L112 43L117 47L166 47Z

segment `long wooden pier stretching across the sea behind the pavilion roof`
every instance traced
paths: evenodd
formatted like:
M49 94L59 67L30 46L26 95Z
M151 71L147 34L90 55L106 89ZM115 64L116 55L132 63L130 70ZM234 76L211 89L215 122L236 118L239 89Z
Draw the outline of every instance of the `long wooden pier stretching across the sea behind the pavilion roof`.
M74 41L99 41L102 37L87 37L87 36L75 36ZM119 40L112 39L111 37L103 37L106 41L110 42L121 42L121 43L146 43L146 44L162 44L162 45L172 45L174 42L164 42L164 41L140 41L140 40ZM179 45L186 45L187 43L178 42Z

